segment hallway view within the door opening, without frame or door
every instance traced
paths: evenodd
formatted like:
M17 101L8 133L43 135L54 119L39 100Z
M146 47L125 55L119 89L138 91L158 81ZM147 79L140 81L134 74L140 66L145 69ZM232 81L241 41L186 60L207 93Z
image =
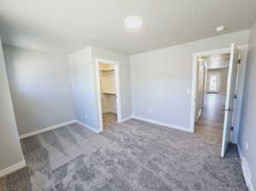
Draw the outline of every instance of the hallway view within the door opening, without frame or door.
M222 142L230 54L198 58L195 132Z

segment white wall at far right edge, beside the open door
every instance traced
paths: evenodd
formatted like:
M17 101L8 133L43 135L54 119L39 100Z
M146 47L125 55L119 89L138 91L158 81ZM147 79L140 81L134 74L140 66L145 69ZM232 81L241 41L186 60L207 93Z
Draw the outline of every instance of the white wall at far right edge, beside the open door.
M241 110L241 127L239 132L239 148L243 156L243 167L247 170L246 179L249 187L256 190L256 22L250 32L247 56L247 72L243 105ZM246 145L248 148L246 149Z

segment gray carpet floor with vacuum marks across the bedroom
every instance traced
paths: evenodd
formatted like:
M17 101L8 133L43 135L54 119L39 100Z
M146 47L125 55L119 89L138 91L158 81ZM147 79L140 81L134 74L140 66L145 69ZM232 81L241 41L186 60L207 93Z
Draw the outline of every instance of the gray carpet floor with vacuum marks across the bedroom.
M70 124L21 140L27 167L1 191L243 191L236 147L219 157L211 137L130 119L94 134Z

